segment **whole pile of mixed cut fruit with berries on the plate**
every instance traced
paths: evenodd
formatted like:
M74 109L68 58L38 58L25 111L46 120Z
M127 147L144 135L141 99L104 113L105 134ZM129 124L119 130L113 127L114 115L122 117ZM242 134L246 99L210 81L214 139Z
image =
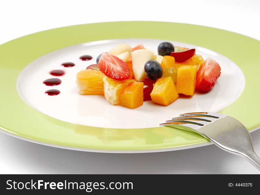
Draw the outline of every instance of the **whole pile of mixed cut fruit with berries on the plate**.
M97 64L77 73L79 94L104 95L110 104L131 109L143 101L168 106L179 94L209 92L220 76L219 64L211 58L204 61L193 48L163 42L157 51L120 43L101 53Z

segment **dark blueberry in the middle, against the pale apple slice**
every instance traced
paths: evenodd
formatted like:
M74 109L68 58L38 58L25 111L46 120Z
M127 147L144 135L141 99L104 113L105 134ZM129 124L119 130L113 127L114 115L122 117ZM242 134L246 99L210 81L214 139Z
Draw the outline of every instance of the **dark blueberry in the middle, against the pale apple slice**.
M144 65L144 72L148 78L156 80L163 75L163 68L156 60L149 60Z

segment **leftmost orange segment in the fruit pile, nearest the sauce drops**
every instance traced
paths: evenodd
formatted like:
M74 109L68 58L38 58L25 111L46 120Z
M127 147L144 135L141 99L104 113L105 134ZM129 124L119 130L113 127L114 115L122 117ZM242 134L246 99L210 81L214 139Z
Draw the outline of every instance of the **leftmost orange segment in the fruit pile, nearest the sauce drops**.
M82 70L77 73L76 83L79 94L103 95L105 75L99 70Z

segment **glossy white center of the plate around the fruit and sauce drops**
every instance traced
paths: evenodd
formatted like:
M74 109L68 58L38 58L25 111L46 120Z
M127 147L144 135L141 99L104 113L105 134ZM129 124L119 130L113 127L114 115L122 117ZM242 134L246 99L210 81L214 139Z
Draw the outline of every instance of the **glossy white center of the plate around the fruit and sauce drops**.
M20 73L17 79L17 91L22 99L36 110L69 123L103 128L150 128L187 112L217 112L234 102L242 93L245 79L242 71L228 58L214 51L169 41L175 46L196 48L196 53L204 59L211 57L220 64L221 76L215 87L206 94L195 93L191 98L180 97L168 106L145 101L136 109L128 109L119 105L109 104L104 96L79 95L75 83L76 73L96 64L96 57L109 51L119 43L136 46L142 43L145 48L157 50L159 43L165 40L155 39L116 39L95 41L69 46L48 53L31 62ZM93 57L89 61L81 61L82 55ZM64 62L73 62L74 67L61 66ZM64 70L63 76L50 75L51 70ZM58 86L45 86L43 81L48 78L59 78ZM48 96L45 91L57 89L57 96Z

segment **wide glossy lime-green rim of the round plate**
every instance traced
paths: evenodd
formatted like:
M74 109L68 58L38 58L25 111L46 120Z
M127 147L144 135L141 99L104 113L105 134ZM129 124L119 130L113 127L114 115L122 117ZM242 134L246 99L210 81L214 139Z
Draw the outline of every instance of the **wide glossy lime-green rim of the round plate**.
M38 112L18 95L16 81L19 73L38 57L79 43L120 38L174 40L199 45L229 58L242 70L246 85L241 96L219 113L235 117L248 130L260 126L260 63L256 54L260 51L260 41L205 26L135 21L56 28L2 44L1 131L39 144L94 152L157 152L210 144L202 136L168 127L112 129L67 123Z

